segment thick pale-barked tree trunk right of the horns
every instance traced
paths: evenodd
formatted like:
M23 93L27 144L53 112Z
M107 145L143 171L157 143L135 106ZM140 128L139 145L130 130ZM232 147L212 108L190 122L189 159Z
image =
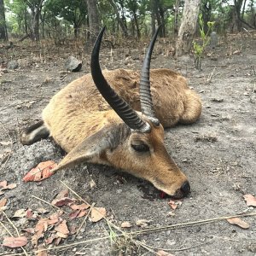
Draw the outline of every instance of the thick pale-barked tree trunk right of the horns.
M176 56L189 52L195 34L201 0L185 0L181 26L176 43Z

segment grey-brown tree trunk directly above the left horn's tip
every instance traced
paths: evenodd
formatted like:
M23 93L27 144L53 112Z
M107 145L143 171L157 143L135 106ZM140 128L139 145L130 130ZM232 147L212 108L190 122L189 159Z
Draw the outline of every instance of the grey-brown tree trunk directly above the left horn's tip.
M91 41L95 41L97 33L100 29L99 13L95 0L86 0L89 18L89 35Z

